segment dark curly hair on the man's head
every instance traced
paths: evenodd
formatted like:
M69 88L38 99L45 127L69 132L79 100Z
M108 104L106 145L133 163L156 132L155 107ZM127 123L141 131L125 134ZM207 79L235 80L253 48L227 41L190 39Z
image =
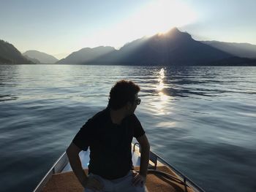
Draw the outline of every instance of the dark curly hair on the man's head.
M124 107L127 102L135 101L135 94L140 87L129 80L120 80L110 90L108 106L113 110Z

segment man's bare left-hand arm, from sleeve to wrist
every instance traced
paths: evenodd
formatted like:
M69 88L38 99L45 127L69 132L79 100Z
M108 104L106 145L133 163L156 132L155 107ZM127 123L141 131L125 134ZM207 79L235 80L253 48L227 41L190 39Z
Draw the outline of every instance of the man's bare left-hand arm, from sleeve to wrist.
M69 158L70 166L72 167L73 172L76 177L78 177L79 182L83 187L86 187L86 182L88 177L86 173L83 171L83 167L79 158L80 148L77 147L73 142L67 147L66 153Z

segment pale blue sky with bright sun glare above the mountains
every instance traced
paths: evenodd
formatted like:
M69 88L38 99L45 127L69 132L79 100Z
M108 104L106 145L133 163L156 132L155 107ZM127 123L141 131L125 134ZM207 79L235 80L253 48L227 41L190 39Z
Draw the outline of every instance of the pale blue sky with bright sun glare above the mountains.
M0 39L57 58L173 26L198 40L256 45L255 10L256 0L0 0Z

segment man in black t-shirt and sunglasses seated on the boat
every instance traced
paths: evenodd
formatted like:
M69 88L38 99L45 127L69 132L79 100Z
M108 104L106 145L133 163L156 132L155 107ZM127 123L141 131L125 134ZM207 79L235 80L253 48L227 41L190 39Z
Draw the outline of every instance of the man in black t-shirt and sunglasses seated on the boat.
M85 192L145 192L148 169L148 139L134 112L140 87L121 80L111 88L108 107L80 128L67 148L69 163ZM140 172L132 171L131 143L140 143ZM89 176L83 171L79 153L90 147Z

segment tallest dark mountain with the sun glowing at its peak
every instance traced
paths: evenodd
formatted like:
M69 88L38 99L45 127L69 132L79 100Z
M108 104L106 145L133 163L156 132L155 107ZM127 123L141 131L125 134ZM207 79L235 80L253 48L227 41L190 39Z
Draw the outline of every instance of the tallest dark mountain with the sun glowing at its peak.
M207 64L231 56L195 41L178 28L135 42L121 47L121 59L118 62L129 62L132 65L194 65Z

